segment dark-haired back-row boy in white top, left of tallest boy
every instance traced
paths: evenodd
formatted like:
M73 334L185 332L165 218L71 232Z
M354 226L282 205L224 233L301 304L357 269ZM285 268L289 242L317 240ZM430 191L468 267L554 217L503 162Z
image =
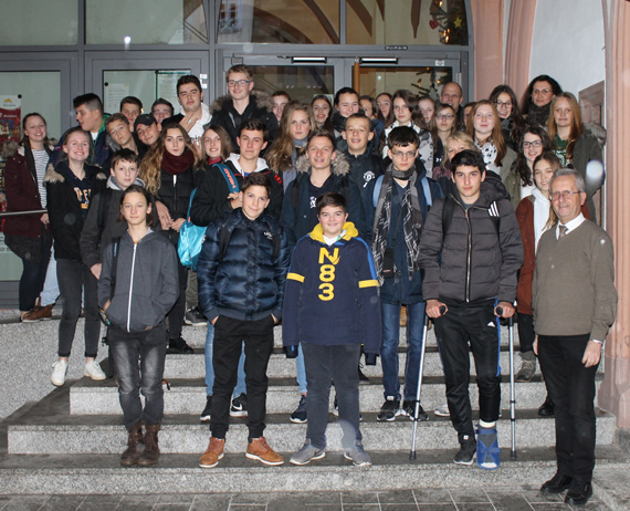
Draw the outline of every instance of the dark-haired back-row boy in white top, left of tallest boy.
M203 103L201 82L197 76L192 74L180 76L177 81L177 101L181 106L181 113L164 119L161 126L179 123L192 140L201 139L203 126L210 123L212 115L208 105Z

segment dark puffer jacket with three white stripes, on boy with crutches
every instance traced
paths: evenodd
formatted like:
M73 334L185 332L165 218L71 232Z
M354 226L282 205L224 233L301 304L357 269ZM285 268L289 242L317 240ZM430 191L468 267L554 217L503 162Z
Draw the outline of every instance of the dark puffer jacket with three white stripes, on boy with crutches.
M443 233L444 200L438 200L429 211L420 239L424 300L447 304L491 299L514 302L523 243L510 200L482 182L480 198L466 210L454 189L448 198L455 201L453 217L449 231ZM498 232L491 215L500 218Z

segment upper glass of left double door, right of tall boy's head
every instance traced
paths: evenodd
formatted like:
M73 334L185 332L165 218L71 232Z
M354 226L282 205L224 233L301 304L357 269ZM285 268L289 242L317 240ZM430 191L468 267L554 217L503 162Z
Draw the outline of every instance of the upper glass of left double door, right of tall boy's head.
M335 94L335 70L332 65L256 65L255 88L272 94L286 91L292 100L309 103L317 94Z

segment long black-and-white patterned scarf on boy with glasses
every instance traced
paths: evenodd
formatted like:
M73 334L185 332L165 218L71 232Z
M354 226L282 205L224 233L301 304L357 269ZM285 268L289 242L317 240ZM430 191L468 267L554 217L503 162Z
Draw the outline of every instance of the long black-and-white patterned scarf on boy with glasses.
M371 249L376 274L378 282L382 285L385 278L382 277L382 262L387 241L389 238L389 228L391 227L391 195L393 192L393 178L409 180L409 185L405 189L405 195L400 202L400 212L402 216L402 231L405 232L405 243L407 244L407 269L409 280L413 278L413 273L420 271L420 231L422 230L422 211L420 210L420 201L418 200L418 189L416 180L418 173L412 167L407 173L393 170L392 165L386 170L382 177L382 184L376 205L374 236ZM398 221L395 221L395 228Z

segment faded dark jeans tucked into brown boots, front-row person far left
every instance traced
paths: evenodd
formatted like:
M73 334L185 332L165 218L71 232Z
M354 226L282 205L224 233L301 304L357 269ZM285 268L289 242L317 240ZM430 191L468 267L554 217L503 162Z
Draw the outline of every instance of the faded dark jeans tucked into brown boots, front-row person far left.
M109 327L109 350L118 372L118 398L123 423L132 429L136 423L160 424L164 417L164 363L166 328L164 323L140 333ZM145 408L140 400L145 396Z

